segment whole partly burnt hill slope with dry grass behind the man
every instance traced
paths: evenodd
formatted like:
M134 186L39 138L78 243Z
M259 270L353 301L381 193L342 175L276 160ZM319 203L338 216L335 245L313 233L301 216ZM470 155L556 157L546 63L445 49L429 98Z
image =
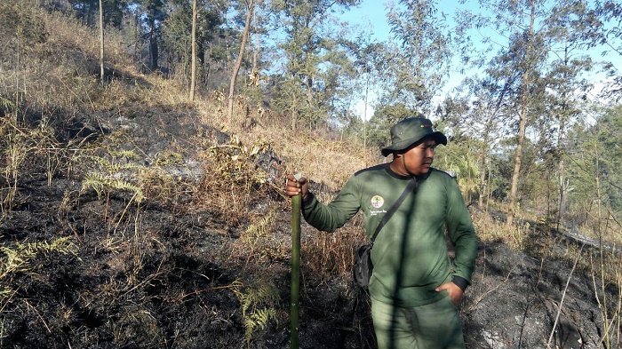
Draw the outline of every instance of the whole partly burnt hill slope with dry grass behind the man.
M190 104L183 86L121 55L110 68L123 74L101 88L85 40L68 36L88 30L35 15L47 34L25 59L47 68L25 78L39 89L0 90L0 347L289 347L283 173L303 171L329 200L373 155L276 119L220 122L217 101ZM13 73L26 74L0 79ZM555 347L602 347L620 297L593 279L598 251L472 213L481 242L459 305L467 347L545 348L553 328ZM303 224L301 347L375 346L369 299L349 274L362 236L358 218L333 235Z

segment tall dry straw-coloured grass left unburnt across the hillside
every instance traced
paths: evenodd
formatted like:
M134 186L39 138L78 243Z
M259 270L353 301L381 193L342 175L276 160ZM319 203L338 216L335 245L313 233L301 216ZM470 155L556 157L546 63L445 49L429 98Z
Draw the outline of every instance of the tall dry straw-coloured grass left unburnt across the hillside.
M2 9L3 4L0 4L0 11ZM84 191L81 194L94 190L99 200L105 202L112 194L129 196L126 203L136 204L132 207L132 210L135 209L133 215L126 214L129 210L126 206L122 212L116 212L115 219L108 219L108 214L104 218L115 224L125 218L128 226L133 226L134 235L128 236L127 241L123 241L124 234L115 237L116 240L108 236L100 246L103 250L114 250L116 256L133 257L134 269L127 285L115 285L119 289L118 294L137 291L159 273L165 272L158 269L158 274L143 280L137 276L143 267L140 248L147 245L147 240L158 241L155 232L140 231L140 202L168 205L179 202L181 196L191 196L191 206L184 210L207 211L211 217L219 219L223 230L228 232L230 228L239 232L237 241L222 247L229 249L227 252L234 257L232 266L259 275L266 270L261 269L263 266L288 258L289 249L284 234L277 235L278 232L283 233L279 217L289 208L283 194L285 172L302 173L311 180L314 190L320 188L318 197L323 202L329 202L355 171L385 161L379 157L378 149L363 149L346 141L331 140L318 131L291 131L289 121L280 120L280 115L253 111L251 116L256 123L251 125L247 123L249 115L240 113L231 123L223 124L219 119L222 100L206 96L191 104L187 99L186 86L179 81L141 75L125 55L123 36L111 29L106 36L108 53L105 60L114 67L119 78L101 88L92 67L99 54L95 30L59 13L32 12L28 15L34 21L44 23L43 26L33 27L38 30L38 34L32 36L39 38L36 44L25 45L24 40L30 36L15 33L13 42L20 44L9 53L0 53L3 58L0 61L0 208L3 218L20 203L20 181L25 176L45 176L48 183L60 173L78 178L83 180ZM84 143L72 140L61 144L55 131L61 130L62 125L68 124L76 115L84 113L114 110L116 115L123 115L126 111L140 113L140 110L160 105L188 107L187 110L200 115L204 124L232 135L231 142L227 144L216 144L199 135L185 146L193 147L203 163L203 178L198 184L185 184L165 171L168 163L179 161L179 149L169 149L161 158L149 159L151 162L147 167L132 163L134 155L131 152L117 149L119 142L114 139L116 135L85 147ZM238 110L246 107L239 106ZM254 107L251 109L255 110ZM197 130L200 128L199 125L187 126ZM280 173L283 177L276 178L274 182L269 181L267 173L254 163L256 156L268 148L273 149L283 162L283 173ZM467 187L472 188L472 184ZM66 193L67 206L76 205L78 201L76 194ZM70 208L63 210L67 213ZM495 219L482 210L473 210L473 218L476 232L484 243L501 242L541 258L570 260L574 256L570 250L567 256L554 256L546 249L546 243L534 244L533 235L542 234L534 225L508 227L504 219ZM619 227L608 226L603 232L603 236L608 238L619 238ZM307 234L302 243L302 270L310 276L307 280L328 282L334 276L349 275L353 251L364 240L360 216L336 234L322 234L315 230L313 234ZM619 243L619 240L616 242ZM28 268L28 264L16 264L19 260L13 258L12 253L21 251L21 258L28 262L31 254L23 247L33 246L15 246L2 247L5 256L2 266ZM68 252L76 253L74 246L64 246ZM579 261L583 263L579 268L594 275L595 297L601 302L603 322L606 323L607 333L611 334L608 340L610 343L617 340L619 345L622 304L619 255L607 252L602 261L588 257L586 255ZM589 260L594 262L586 262ZM0 280L10 277L14 270L18 269L0 270ZM603 275L602 278L599 275ZM235 283L234 293L240 301L245 339L250 344L257 329L277 318L275 308L278 298L269 280L258 284L246 283ZM617 285L614 290L618 290L618 294L608 292L610 289L607 286L610 285ZM0 293L3 291L0 290ZM9 293L4 291L4 295ZM0 335L1 327L2 322ZM117 335L123 337L122 332L119 329Z

